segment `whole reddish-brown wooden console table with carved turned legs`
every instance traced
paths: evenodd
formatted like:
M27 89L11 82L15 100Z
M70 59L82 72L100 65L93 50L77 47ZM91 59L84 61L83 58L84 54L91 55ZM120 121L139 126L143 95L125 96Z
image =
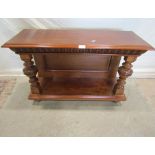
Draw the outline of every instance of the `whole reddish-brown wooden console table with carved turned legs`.
M21 31L2 47L20 55L29 99L38 101L126 100L132 63L153 49L131 31L35 29Z

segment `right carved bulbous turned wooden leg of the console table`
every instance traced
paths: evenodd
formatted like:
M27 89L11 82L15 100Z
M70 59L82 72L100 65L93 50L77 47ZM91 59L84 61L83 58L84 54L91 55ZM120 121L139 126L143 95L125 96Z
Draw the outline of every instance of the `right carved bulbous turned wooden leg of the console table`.
M132 71L132 62L136 60L136 56L125 56L124 60L125 62L122 64L122 66L119 67L118 73L119 73L119 79L117 80L116 85L114 86L113 93L115 95L123 95L124 94L124 86L126 83L127 77L131 76Z

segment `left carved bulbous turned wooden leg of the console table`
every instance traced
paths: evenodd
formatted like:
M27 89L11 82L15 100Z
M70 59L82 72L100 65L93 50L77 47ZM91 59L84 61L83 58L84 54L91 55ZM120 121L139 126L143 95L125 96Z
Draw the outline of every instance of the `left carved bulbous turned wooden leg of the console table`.
M38 71L37 67L32 61L32 54L20 54L20 58L24 61L23 72L29 77L31 92L33 94L40 94L41 88L38 82L38 78L36 77Z

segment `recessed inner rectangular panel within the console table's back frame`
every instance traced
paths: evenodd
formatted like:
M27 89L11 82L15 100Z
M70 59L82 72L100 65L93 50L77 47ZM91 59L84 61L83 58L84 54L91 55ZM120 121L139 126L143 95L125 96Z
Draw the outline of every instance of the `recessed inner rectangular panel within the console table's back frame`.
M107 71L111 56L95 54L44 54L47 70L86 70Z

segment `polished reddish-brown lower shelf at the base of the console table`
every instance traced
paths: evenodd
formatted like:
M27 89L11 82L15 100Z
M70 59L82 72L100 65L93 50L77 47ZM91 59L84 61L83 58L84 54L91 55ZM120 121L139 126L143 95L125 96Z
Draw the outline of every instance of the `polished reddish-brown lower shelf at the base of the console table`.
M125 95L113 95L114 82L92 78L46 78L42 93L30 94L32 100L126 100Z

